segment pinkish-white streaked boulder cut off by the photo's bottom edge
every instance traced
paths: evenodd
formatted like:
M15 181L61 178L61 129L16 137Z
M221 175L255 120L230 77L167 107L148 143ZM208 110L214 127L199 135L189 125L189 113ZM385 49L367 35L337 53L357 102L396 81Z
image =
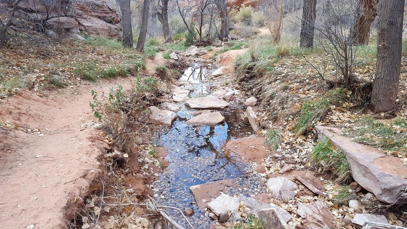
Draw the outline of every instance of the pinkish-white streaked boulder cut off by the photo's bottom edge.
M336 228L334 216L323 201L311 204L298 204L297 214L301 216L305 228L333 229Z

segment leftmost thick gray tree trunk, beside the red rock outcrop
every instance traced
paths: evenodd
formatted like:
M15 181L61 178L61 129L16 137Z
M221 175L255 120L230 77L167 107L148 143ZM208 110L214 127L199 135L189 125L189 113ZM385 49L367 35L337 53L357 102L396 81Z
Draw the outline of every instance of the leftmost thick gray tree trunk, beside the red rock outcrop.
M133 27L131 26L130 0L117 0L122 12L123 45L133 47Z

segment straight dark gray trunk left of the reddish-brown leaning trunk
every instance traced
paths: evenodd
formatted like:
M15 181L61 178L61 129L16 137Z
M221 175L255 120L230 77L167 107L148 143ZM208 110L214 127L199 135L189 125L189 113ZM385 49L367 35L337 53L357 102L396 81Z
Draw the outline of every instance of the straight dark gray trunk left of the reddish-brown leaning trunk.
M300 47L310 48L314 45L315 11L316 0L304 0L301 20Z

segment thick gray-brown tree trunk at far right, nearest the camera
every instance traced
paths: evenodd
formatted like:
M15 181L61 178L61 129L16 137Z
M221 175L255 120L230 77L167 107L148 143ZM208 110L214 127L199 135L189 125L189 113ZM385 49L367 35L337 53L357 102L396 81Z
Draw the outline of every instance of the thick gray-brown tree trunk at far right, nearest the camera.
M370 107L386 112L394 108L398 93L404 0L380 0L377 9L377 63Z

